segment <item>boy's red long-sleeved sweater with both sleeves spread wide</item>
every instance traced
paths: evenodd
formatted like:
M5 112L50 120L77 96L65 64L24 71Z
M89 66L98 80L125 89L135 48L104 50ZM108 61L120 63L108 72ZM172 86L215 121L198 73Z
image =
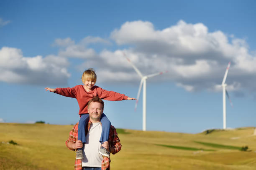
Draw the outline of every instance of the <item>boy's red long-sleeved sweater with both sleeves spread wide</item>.
M118 92L104 90L101 87L93 86L90 92L84 90L83 85L76 85L75 87L67 88L56 88L56 92L59 95L73 97L77 99L79 105L79 116L82 114L88 114L87 104L95 96L100 97L104 100L119 101L127 100L128 96L120 94Z

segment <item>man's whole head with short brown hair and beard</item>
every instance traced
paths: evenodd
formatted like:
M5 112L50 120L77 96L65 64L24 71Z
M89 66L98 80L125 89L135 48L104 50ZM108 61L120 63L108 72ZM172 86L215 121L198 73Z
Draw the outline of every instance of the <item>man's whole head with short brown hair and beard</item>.
M103 113L104 109L104 102L103 100L100 99L100 97L93 97L89 102L88 102L88 113L90 116L91 122L99 122L100 117Z

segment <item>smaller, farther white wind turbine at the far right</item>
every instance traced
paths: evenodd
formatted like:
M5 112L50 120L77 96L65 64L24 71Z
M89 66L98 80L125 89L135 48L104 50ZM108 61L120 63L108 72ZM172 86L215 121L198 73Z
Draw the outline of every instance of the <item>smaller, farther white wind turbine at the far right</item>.
M228 67L226 69L225 75L223 77L223 81L221 83L222 92L223 92L223 129L226 129L226 95L228 96L230 105L233 106L233 104L230 100L230 97L228 95L228 91L226 90L227 84L225 84L225 81L226 81L226 78L227 78L227 75L228 75L229 67L230 67L230 62L228 63Z

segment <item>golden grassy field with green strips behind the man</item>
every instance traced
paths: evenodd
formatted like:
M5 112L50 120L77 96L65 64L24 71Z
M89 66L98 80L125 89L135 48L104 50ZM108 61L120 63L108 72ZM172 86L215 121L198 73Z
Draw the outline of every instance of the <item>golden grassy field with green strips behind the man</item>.
M0 170L72 170L65 141L72 125L0 123ZM200 134L118 129L112 170L255 170L254 128ZM7 144L13 140L18 145ZM241 151L248 146L249 151Z

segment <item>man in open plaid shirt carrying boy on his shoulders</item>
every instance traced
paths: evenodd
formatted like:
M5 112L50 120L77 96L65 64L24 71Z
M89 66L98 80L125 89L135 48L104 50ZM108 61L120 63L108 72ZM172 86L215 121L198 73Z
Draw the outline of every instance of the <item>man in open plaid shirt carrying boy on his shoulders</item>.
M102 132L100 117L103 113L104 102L99 97L93 97L88 102L89 123L86 128L86 143L77 140L78 123L69 133L66 145L70 150L83 148L83 158L76 159L75 170L110 170L110 158L99 154L101 147L115 154L121 150L121 143L115 128L111 125L108 142L99 142Z

